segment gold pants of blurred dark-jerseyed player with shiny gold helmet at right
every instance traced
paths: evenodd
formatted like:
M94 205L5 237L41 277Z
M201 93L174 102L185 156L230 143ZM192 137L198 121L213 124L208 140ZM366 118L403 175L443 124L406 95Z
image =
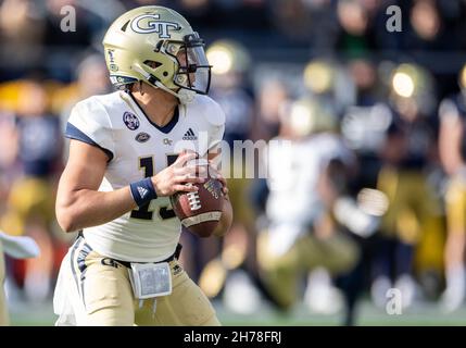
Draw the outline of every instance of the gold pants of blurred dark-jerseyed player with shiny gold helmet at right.
M386 166L380 171L377 188L389 199L389 209L382 217L380 232L414 246L415 270L443 270L443 225L440 201L429 185L426 174L414 170ZM450 188L448 197L451 196ZM448 220L464 221L459 199L446 204Z

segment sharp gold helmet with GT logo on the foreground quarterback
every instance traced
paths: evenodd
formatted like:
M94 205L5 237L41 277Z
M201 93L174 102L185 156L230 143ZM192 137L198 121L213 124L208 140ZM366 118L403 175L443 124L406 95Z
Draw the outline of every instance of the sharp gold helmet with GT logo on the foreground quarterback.
M149 5L124 13L110 26L103 47L111 82L118 88L143 80L181 103L209 92L204 41L174 10Z

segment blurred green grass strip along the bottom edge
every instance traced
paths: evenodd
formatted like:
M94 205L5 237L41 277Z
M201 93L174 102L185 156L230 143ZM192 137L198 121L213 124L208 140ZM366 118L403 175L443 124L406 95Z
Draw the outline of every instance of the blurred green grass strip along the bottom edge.
M222 306L214 303L218 318L225 326L333 326L341 322L341 314L317 315L310 313L303 306L290 315L279 314L268 308L264 308L253 315L235 314L225 310ZM53 325L55 316L52 304L18 306L12 309L12 325L15 326L50 326ZM389 315L383 310L375 308L368 301L362 301L357 325L366 326L430 326L430 325L466 325L466 307L450 313L441 313L436 304L423 304L418 308L406 310L400 315Z

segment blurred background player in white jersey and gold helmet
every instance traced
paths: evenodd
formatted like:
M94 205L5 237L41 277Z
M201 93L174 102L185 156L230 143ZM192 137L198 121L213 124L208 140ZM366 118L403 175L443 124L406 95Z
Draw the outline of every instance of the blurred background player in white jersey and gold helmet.
M257 240L261 278L278 308L298 299L300 278L317 266L332 275L349 272L358 258L354 241L339 231L330 209L353 157L332 115L315 100L298 100L281 120L269 147L266 201L268 227Z

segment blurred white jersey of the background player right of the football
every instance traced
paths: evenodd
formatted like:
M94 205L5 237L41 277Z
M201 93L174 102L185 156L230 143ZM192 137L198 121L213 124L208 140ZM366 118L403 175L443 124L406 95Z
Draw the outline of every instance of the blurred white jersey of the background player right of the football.
M273 224L305 226L323 213L317 184L332 159L348 163L352 154L338 136L329 133L269 147L266 214Z

